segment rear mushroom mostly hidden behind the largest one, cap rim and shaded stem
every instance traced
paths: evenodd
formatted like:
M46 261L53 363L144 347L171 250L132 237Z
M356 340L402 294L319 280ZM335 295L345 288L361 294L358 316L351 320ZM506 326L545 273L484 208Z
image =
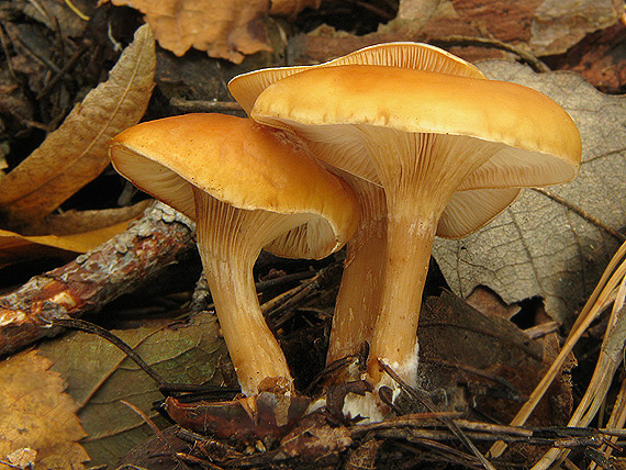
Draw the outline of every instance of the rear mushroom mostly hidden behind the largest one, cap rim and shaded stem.
M228 89L249 114L258 96L278 80L313 67L340 65L380 65L440 74L484 78L473 65L438 48L421 43L387 43L365 47L316 66L278 67L243 74L231 80ZM328 136L332 138L331 136ZM315 150L315 139L310 144ZM367 159L354 158L358 142L350 141L347 157L342 142L332 152L320 149L320 157L354 188L361 204L361 217L355 236L348 242L344 275L337 295L327 362L356 355L364 343L371 343L379 314L382 269L385 262L387 205L384 190L379 186L376 170ZM328 143L322 143L322 147ZM356 176L355 176L356 175ZM376 181L372 182L372 181Z

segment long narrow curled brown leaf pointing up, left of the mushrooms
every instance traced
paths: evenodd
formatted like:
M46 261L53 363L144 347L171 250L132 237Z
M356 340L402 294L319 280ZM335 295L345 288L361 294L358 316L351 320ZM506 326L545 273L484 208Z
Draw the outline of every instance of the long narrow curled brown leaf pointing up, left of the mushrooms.
M154 38L135 33L101 83L77 104L58 130L9 175L0 178L4 228L23 226L54 211L109 165L107 145L143 116L154 87Z

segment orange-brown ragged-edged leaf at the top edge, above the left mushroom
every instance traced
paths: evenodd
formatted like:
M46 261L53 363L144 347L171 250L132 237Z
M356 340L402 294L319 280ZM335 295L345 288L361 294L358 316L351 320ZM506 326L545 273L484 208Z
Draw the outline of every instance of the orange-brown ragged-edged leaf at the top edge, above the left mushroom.
M145 14L159 45L182 56L190 47L239 64L271 51L265 19L269 0L112 0Z

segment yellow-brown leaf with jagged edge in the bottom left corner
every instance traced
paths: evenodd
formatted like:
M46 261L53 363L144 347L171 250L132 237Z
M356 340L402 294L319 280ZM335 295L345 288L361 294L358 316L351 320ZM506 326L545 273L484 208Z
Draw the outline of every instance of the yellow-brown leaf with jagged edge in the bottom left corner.
M30 448L36 451L36 468L82 469L89 456L77 444L86 435L78 406L51 366L35 350L0 362L0 460ZM0 463L0 470L10 469Z

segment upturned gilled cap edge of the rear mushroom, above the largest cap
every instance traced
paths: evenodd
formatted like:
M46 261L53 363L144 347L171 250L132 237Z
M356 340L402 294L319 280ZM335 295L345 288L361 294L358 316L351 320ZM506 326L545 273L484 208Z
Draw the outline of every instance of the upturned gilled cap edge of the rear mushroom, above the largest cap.
M394 42L375 44L323 64L295 67L270 67L234 77L228 90L249 115L258 96L271 83L311 68L338 65L380 65L439 74L485 78L474 65L444 51L423 43Z

